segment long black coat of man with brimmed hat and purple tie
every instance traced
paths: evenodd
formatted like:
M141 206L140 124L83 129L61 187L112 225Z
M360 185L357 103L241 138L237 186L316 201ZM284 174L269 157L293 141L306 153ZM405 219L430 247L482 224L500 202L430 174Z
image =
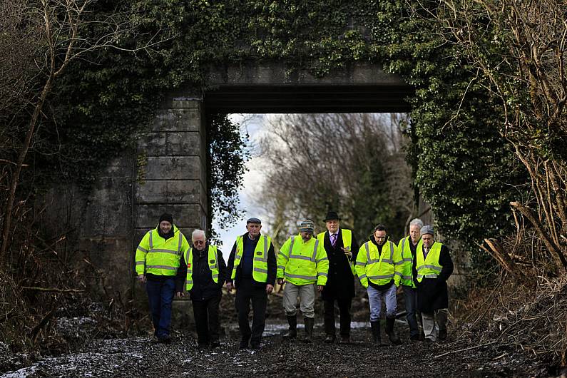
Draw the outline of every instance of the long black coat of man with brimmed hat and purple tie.
M339 228L339 236L341 235L341 228ZM354 275L350 270L348 256L342 252L341 248L344 247L342 237L337 237L334 247L331 244L329 231L325 233L323 246L327 257L329 258L329 272L327 273L327 285L323 287L321 297L323 300L347 299L354 297ZM357 260L358 243L352 235L352 244L350 251L352 252L351 261Z

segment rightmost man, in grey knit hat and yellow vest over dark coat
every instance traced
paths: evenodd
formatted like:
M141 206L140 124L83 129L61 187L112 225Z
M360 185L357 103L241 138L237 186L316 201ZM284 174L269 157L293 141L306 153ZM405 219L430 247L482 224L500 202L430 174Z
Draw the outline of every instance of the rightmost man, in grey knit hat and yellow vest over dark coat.
M415 266L417 275L417 310L422 312L425 342L447 337L447 307L449 294L446 281L453 272L449 248L434 240L434 229L424 225L422 240L417 245Z

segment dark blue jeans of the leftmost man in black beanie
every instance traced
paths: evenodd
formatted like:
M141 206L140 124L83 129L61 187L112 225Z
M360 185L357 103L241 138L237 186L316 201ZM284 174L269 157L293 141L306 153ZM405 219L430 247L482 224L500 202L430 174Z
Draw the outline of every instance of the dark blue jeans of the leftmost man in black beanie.
M164 281L148 280L145 282L145 290L148 292L148 301L152 312L153 334L157 337L168 336L175 281L173 277Z

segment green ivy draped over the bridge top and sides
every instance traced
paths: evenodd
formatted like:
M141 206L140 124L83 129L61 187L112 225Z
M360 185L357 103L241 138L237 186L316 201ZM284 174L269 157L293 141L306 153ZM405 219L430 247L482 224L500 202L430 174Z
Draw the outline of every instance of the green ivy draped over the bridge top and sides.
M410 12L411 1L99 1L96 12L128 11L137 34L78 61L58 82L51 112L39 130L34 159L46 183L61 176L88 187L109 158L133 148L170 91L207 88L211 65L285 61L317 76L356 61L382 64L417 89L412 104L415 182L431 203L439 230L471 242L509 230L511 198L522 195L525 173L499 138L498 101L486 83L436 38L436 26ZM83 33L91 33L85 30ZM93 63L96 62L96 63ZM290 73L292 73L290 71ZM223 156L230 169L213 168L210 190L223 205L241 183L245 155L237 128L217 122L211 161ZM56 150L57 153L53 154ZM223 184L224 183L224 184Z

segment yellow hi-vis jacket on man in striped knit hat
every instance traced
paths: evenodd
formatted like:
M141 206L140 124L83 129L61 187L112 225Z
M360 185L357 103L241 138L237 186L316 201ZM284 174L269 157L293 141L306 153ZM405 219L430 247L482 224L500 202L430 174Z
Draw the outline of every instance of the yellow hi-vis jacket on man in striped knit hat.
M312 237L303 242L301 235L294 235L282 245L277 254L277 278L284 278L294 285L327 283L329 259L323 243Z

